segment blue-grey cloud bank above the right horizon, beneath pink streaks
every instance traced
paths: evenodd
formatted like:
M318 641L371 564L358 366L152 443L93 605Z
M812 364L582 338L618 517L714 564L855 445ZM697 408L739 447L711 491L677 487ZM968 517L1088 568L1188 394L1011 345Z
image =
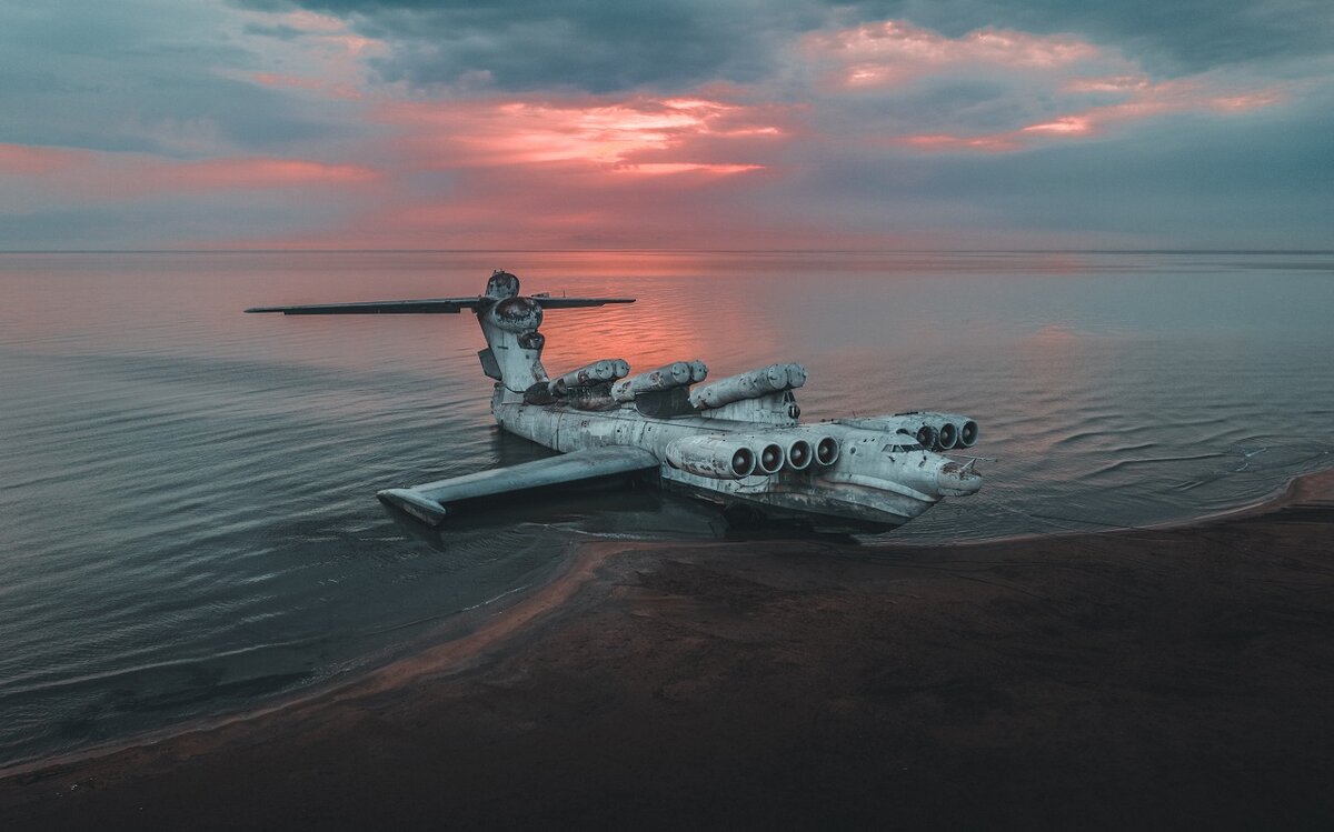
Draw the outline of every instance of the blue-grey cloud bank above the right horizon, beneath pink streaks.
M794 161L807 168L799 204L824 205L840 228L951 228L962 247L986 229L1049 244L1069 235L1149 248L1317 248L1334 228L1330 135L1326 95L1263 119L1181 113L1019 152L848 145Z

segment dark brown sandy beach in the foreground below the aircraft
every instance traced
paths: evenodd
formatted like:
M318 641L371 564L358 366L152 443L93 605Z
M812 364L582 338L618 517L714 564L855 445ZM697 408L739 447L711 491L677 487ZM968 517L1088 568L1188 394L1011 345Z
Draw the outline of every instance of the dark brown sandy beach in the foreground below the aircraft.
M279 711L11 771L0 828L1334 828L1334 472L1193 527L598 543Z

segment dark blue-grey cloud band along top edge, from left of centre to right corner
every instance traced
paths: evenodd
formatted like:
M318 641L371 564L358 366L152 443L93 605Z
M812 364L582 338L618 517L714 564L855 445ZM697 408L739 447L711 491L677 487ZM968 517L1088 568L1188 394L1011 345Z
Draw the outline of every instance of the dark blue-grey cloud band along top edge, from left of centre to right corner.
M1158 75L1326 53L1329 0L240 0L305 8L386 40L386 80L414 85L679 89L772 77L803 33L903 19L951 37L983 27L1070 32Z

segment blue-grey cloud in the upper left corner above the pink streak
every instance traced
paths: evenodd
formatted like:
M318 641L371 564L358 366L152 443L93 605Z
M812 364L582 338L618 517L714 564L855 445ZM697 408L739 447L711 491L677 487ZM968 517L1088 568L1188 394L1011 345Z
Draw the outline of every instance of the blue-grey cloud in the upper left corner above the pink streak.
M0 143L189 157L355 132L244 80L256 61L224 23L167 0L0 8Z

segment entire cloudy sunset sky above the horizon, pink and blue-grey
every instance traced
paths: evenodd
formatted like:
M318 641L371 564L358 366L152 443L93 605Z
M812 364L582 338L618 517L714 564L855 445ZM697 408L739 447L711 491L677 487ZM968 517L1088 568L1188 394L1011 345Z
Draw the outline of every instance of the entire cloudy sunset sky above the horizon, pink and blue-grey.
M1334 248L1329 0L0 0L0 249Z

